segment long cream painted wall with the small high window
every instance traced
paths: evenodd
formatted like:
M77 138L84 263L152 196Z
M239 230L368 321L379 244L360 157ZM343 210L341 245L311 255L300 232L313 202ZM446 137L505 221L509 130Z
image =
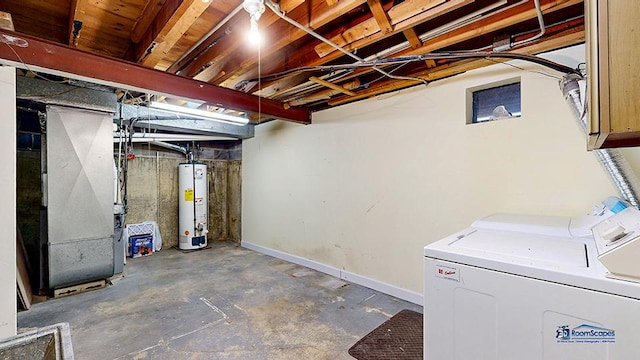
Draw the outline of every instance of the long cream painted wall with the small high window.
M576 66L584 48L550 56ZM513 77L522 118L466 125L466 89ZM309 126L260 125L243 146L243 242L416 294L423 247L475 219L581 215L616 194L558 80L503 64L314 113Z

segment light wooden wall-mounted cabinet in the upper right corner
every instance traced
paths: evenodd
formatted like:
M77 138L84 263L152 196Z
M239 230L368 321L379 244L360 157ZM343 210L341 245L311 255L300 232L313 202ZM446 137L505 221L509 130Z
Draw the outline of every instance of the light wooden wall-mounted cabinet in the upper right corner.
M640 145L640 1L585 0L590 150Z

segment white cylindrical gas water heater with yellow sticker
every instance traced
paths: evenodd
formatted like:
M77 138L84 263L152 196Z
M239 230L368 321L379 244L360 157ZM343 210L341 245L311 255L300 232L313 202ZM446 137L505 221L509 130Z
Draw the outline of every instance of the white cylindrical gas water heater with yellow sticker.
M198 162L178 166L178 247L182 250L207 246L207 166Z

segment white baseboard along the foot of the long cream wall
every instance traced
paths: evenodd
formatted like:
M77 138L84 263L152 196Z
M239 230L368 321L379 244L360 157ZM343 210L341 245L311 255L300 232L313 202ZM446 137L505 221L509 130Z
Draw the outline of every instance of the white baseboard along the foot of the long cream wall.
M370 289L380 291L387 295L391 295L393 297L408 301L413 304L417 304L420 306L423 305L422 294L417 293L415 291L403 289L401 287L387 284L385 282L371 279L359 274L355 274L350 271L341 270L336 267L317 262L315 260L307 259L305 257L298 256L298 255L289 254L280 250L274 250L274 249L264 247L262 245L254 244L248 241L242 241L241 246L249 250L253 250L265 255L273 256L280 260L302 265L310 269L314 269L314 270L323 272L325 274L335 276L337 278L352 282L354 284L362 285Z

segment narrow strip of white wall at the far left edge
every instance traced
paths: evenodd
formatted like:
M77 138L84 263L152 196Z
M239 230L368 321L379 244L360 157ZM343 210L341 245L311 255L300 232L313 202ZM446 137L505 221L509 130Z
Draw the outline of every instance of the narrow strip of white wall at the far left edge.
M0 67L0 339L16 334L16 72Z

